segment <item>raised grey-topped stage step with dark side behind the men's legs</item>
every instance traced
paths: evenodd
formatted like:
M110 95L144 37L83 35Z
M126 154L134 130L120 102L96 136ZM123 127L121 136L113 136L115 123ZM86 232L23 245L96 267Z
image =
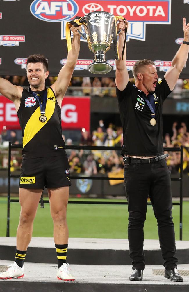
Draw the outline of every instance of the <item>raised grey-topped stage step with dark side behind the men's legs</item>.
M0 259L13 260L15 237L1 237ZM176 241L178 264L189 264L189 241ZM146 265L162 265L158 240L145 240ZM67 258L74 265L131 265L128 239L70 238ZM53 238L33 237L26 262L56 264Z

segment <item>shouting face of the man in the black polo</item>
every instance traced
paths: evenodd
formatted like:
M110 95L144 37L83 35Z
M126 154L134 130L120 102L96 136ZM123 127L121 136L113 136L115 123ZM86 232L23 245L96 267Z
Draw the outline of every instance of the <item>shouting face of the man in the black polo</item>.
M158 82L156 66L145 65L141 67L140 73L137 74L137 77L139 79L140 88L137 87L144 91L145 94L155 91L156 83Z

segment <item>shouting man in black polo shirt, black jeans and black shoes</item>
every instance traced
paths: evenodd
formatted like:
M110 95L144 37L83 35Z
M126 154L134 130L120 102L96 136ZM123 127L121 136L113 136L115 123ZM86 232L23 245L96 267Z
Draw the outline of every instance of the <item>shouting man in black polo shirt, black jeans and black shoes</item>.
M126 25L128 22L126 21ZM119 19L118 52L124 48L125 24ZM163 153L162 105L173 90L189 52L189 23L183 18L184 39L172 67L158 82L154 62L140 60L133 66L135 84L129 81L126 68L126 48L123 58L116 62L116 92L123 125L124 180L128 200L128 239L133 272L131 281L142 281L145 259L143 251L144 222L148 196L158 223L158 234L165 266L165 278L182 282L177 271L170 174ZM155 102L156 101L156 102Z

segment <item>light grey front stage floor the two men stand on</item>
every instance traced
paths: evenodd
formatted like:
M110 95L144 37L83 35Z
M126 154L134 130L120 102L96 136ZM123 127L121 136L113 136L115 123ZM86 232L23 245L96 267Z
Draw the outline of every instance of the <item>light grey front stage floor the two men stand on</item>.
M0 260L1 267L12 261ZM129 281L130 265L72 265L74 282L64 282L56 278L57 265L44 263L25 263L22 279L0 280L1 292L188 292L189 264L179 265L186 271L184 282L171 282L163 275L161 265L146 265L143 280Z

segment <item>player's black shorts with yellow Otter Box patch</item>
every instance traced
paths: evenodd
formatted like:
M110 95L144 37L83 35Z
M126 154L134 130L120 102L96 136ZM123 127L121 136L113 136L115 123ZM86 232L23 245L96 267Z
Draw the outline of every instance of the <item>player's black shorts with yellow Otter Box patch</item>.
M28 158L22 161L19 187L44 189L70 185L66 153L63 156Z

